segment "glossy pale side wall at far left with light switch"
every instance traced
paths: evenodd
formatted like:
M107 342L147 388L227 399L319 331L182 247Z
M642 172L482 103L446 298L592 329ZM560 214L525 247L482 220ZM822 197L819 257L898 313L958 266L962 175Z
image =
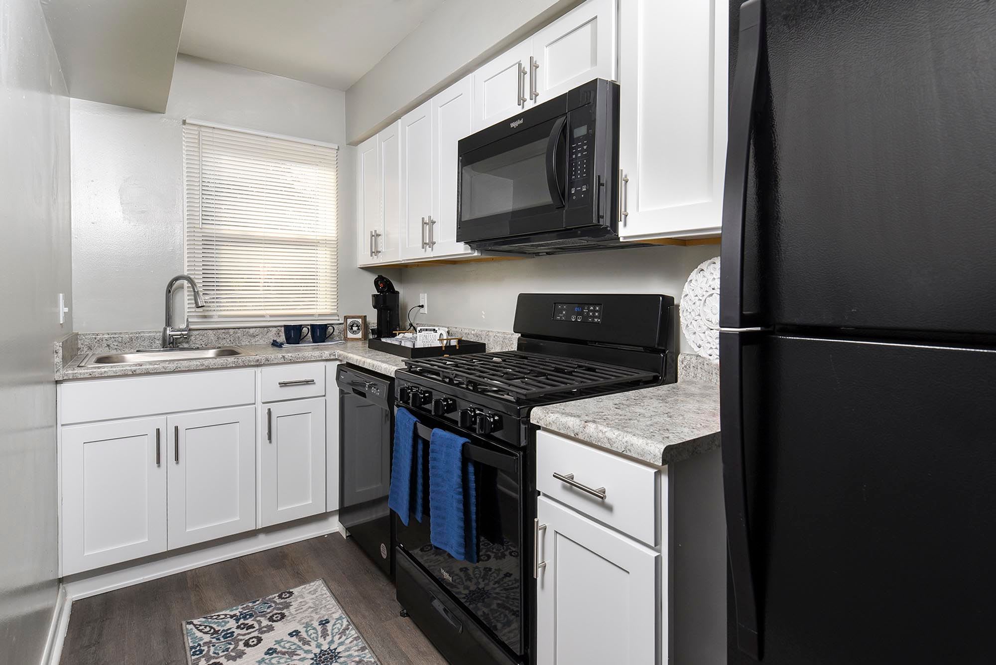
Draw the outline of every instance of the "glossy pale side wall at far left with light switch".
M0 662L38 663L58 589L57 299L71 292L69 100L38 0L0 2Z

